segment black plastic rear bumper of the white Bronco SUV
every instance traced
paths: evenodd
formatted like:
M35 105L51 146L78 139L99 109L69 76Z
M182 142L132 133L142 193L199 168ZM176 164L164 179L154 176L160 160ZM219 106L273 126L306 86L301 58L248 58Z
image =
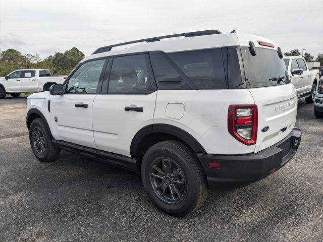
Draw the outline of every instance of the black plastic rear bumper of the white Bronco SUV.
M294 128L285 139L256 154L196 154L210 187L243 187L270 175L274 167L276 170L283 167L296 154L301 135L301 130ZM219 162L220 168L210 168L207 162Z

